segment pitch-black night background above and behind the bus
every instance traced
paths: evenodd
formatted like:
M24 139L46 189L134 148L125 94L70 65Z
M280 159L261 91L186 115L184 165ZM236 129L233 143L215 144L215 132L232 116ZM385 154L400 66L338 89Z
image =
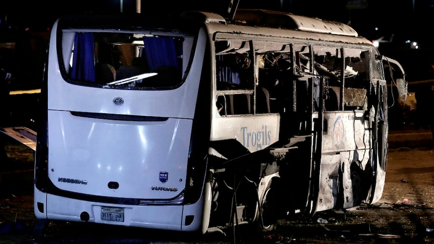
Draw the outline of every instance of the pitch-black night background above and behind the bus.
M39 87L48 33L58 17L83 12L120 12L121 3L122 12L136 12L136 0L1 1L0 65L19 80L12 89ZM223 13L228 6L229 0L142 0L140 12ZM409 82L431 78L434 0L241 0L238 7L283 11L348 24L369 40L382 38L380 52L401 62ZM417 41L419 48L406 41Z

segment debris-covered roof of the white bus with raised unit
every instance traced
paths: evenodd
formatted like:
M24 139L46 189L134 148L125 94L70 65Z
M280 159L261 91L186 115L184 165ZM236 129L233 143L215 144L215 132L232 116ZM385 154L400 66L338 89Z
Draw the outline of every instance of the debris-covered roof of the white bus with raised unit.
M116 21L113 21L116 19ZM207 24L214 33L238 33L264 38L295 38L326 42L372 45L366 38L358 36L348 25L318 18L298 16L285 12L238 9L234 19L225 19L216 13L187 11L180 16L143 14L84 14L64 16L59 27L67 29L141 29L155 28L195 32L201 24ZM238 26L238 27L235 27ZM286 30L276 32L276 30Z

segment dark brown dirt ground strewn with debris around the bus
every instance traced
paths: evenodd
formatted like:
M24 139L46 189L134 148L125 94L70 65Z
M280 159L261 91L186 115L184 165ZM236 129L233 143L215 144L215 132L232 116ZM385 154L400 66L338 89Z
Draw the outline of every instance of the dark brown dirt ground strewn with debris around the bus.
M50 221L33 214L33 151L8 143L0 169L0 243L434 243L434 152L390 149L383 197L373 206L279 220L275 232L185 235ZM321 223L320 223L321 222Z

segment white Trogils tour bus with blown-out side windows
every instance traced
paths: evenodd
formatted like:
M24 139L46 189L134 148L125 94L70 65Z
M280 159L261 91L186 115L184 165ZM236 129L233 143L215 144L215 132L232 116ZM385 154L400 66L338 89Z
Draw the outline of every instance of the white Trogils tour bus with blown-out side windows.
M157 18L54 23L37 219L270 231L286 215L381 198L387 85L405 97L399 63L321 19L241 9Z

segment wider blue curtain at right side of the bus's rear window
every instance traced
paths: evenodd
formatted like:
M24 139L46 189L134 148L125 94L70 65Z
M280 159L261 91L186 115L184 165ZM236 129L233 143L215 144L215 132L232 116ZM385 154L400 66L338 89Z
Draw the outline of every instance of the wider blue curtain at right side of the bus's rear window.
M146 37L143 38L144 51L148 60L149 69L159 66L174 66L180 68L175 39L172 37Z

